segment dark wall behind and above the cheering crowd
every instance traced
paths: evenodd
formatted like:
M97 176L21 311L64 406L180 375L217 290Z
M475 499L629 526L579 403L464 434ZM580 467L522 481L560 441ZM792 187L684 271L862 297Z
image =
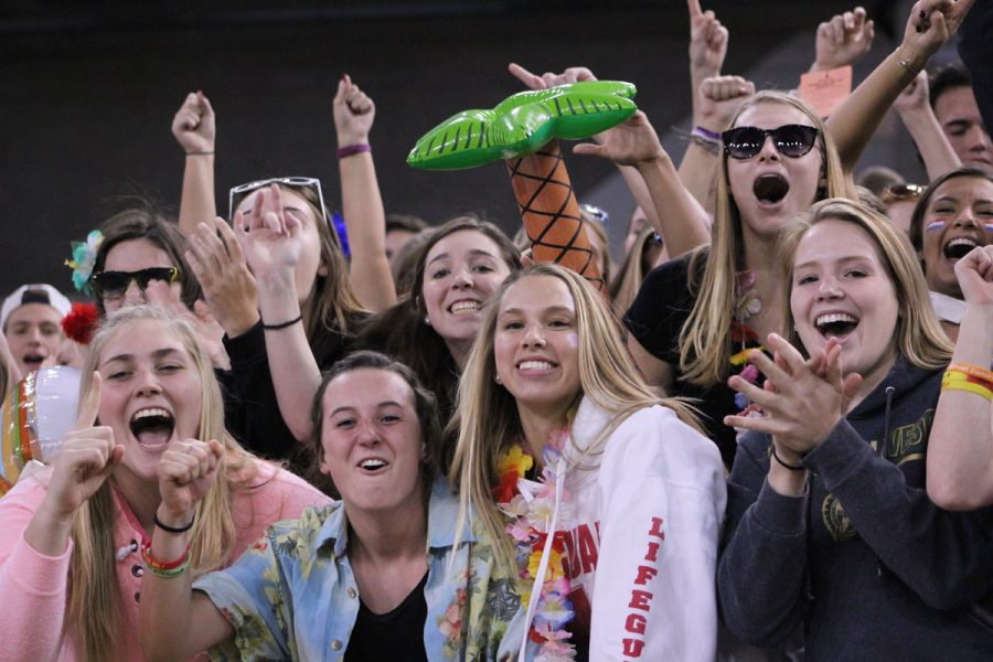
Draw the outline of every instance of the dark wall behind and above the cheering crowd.
M905 19L877 4L869 10L880 21L882 57L888 24L901 30ZM813 58L816 23L851 3L705 6L732 32L726 73L747 72L809 33L780 63L793 72L789 86ZM203 89L217 113L222 211L231 185L269 175L317 175L339 199L330 107L348 72L377 106L372 143L387 211L433 223L485 211L513 231L502 167L416 172L404 163L414 141L455 111L492 107L520 90L506 73L511 61L540 72L581 64L631 81L664 132L688 113L687 42L680 0L252 1L209 10L15 2L0 12L0 292L28 281L71 289L62 266L68 242L114 211L116 196L140 192L178 204L183 157L170 124L190 90ZM569 166L580 197L613 173L589 159Z

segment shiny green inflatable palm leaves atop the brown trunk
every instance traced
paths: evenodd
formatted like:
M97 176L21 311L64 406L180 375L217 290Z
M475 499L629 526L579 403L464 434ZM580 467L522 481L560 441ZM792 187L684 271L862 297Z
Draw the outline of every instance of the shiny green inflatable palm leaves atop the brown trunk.
M579 140L619 125L638 110L630 83L585 81L521 92L492 110L463 110L417 141L407 163L459 170L536 152L553 138Z

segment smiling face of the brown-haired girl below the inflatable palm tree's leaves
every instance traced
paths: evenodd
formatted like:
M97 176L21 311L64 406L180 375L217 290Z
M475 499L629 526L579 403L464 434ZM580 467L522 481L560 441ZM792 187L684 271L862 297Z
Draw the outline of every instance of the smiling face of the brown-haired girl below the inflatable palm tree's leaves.
M424 306L431 327L460 365L479 334L480 309L509 275L496 243L474 229L453 232L428 252Z

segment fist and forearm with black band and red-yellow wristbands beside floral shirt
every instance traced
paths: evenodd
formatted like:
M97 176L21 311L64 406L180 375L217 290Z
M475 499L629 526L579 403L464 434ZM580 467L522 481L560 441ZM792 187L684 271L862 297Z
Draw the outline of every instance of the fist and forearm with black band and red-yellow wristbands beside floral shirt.
M216 480L223 455L218 441L188 439L173 442L159 460L162 502L156 512L151 548L146 553L138 610L141 648L151 661L189 660L234 634L214 604L203 594L193 592L189 567L189 525L196 503Z

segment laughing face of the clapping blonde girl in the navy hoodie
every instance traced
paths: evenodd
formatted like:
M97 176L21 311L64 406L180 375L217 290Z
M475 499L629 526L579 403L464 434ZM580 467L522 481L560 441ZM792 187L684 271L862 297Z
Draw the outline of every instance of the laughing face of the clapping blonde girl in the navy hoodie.
M897 355L896 288L872 236L854 223L811 227L793 257L790 308L809 352L829 338L842 346L845 373L877 383Z

